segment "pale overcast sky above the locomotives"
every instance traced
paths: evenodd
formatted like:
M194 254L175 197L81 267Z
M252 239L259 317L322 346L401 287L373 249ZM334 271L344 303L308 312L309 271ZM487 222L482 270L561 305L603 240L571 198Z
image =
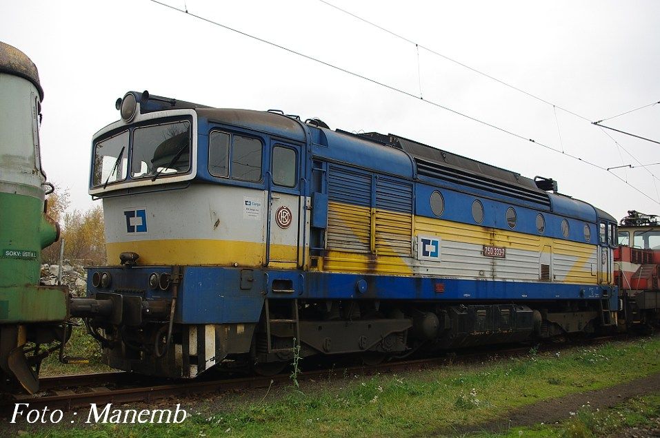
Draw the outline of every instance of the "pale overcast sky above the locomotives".
M43 166L74 208L92 205L92 134L119 118L118 97L148 90L398 134L554 178L561 193L617 219L628 209L660 214L660 165L607 172L566 156L605 168L660 163L660 145L608 131L617 145L589 123L660 101L660 1L328 0L588 121L318 0L165 2L417 98L148 0L0 0L0 41L30 56L45 91ZM660 140L659 121L653 105L603 125Z

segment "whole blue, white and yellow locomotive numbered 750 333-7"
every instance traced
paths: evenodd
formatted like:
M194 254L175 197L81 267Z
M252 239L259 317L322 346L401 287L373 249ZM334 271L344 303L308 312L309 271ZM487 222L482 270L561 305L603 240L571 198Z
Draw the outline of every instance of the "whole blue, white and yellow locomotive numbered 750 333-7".
M195 377L368 362L617 324L617 221L546 178L319 119L129 92L94 135L108 260L86 322L114 368Z

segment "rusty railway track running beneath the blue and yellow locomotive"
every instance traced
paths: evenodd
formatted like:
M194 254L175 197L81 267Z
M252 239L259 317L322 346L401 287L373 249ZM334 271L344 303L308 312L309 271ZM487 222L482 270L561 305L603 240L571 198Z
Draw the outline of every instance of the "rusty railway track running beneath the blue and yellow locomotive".
M586 340L579 344L541 344L542 351L557 351L579 345L602 344L610 340L621 340L621 336L605 336ZM535 348L535 347L534 347ZM530 345L508 348L480 348L479 351L459 351L441 357L385 362L374 366L341 366L305 371L297 376L299 382L312 379L343 375L370 375L373 373L394 373L414 369L429 368L447 364L482 362L497 357L526 355ZM118 404L128 402L149 402L166 397L192 397L208 393L268 388L290 382L290 375L279 374L270 377L228 377L222 379L195 379L166 381L135 375L132 373L97 373L88 375L68 375L46 377L41 381L41 392L35 395L6 395L0 399L0 415L9 415L16 403L29 403L30 409L48 406L49 409L72 410L89 407L90 404Z

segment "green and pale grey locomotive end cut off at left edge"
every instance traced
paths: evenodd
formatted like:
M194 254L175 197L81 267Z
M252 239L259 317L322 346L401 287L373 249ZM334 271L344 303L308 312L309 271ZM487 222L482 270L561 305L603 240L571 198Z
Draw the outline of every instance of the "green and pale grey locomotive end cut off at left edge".
M53 186L41 167L42 100L37 67L0 42L0 382L30 393L41 360L66 342L69 316L66 287L39 284L41 249L59 236L44 201Z

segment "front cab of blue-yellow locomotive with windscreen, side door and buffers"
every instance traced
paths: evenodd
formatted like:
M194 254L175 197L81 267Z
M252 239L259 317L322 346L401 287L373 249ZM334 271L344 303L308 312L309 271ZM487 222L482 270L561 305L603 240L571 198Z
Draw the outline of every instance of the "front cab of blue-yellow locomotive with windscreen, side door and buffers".
M295 273L255 270L305 264L306 136L283 114L147 92L129 92L117 107L121 120L94 135L90 171L114 267L90 269L90 299L102 306L94 314L79 300L74 313L86 317L111 366L152 374L176 363L168 375L194 377L250 351L264 291L301 288ZM123 355L127 338L140 347ZM198 340L212 342L204 362L188 354L199 353Z

